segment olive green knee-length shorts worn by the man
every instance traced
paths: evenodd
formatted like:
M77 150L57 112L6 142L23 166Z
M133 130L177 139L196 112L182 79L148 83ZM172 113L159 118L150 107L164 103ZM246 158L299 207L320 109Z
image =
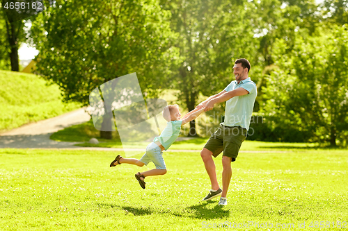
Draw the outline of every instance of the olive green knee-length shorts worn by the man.
M240 146L246 139L246 132L246 128L227 127L220 123L220 127L208 139L204 147L212 151L214 157L223 151L223 155L231 157L233 162L237 158Z

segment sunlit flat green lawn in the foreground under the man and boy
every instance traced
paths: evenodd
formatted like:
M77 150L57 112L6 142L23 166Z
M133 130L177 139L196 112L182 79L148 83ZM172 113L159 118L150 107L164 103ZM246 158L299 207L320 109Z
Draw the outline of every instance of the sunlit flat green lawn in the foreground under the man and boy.
M111 169L118 152L0 149L0 230L207 230L243 222L254 223L248 230L255 223L301 230L298 223L319 228L320 221L348 228L347 150L288 151L239 153L221 207L218 199L200 201L209 179L198 152L164 153L168 173L146 178L141 189L134 173L154 165ZM221 157L216 169L221 182Z

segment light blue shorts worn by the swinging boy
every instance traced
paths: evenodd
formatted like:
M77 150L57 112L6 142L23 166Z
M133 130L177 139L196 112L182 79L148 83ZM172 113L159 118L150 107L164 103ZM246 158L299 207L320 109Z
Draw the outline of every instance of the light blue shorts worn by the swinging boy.
M143 157L141 157L140 161L145 165L153 162L156 166L156 169L166 169L166 163L164 163L162 155L163 152L161 151L161 148L159 148L157 144L152 142L146 147L146 153L143 155Z

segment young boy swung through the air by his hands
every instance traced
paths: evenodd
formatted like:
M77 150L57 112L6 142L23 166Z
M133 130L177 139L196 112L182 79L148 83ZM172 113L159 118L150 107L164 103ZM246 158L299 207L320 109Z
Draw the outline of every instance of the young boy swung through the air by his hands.
M192 110L187 113L180 119L181 114L179 112L179 105L168 105L164 108L162 114L164 119L166 119L167 126L161 132L159 137L155 137L154 141L146 147L146 153L141 157L140 160L133 158L123 158L120 155L116 157L113 162L111 162L110 166L116 166L118 164L134 164L138 166L148 165L149 162L153 162L156 166L156 169L152 169L149 171L144 171L143 173L136 173L135 178L139 181L140 186L145 189L145 177L147 176L157 176L166 174L166 164L164 163L164 159L162 157L163 151L167 150L174 142L175 139L180 134L180 128L185 123L189 123L193 119L196 119L202 112L204 112L204 108L198 110Z

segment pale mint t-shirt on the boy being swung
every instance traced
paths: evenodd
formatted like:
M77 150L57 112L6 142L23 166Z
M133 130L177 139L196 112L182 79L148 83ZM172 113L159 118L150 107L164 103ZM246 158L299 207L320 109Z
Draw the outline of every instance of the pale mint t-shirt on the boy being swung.
M167 122L166 128L161 132L159 137L155 137L153 142L159 142L164 149L167 150L180 135L180 128L182 125L182 120L175 120Z

